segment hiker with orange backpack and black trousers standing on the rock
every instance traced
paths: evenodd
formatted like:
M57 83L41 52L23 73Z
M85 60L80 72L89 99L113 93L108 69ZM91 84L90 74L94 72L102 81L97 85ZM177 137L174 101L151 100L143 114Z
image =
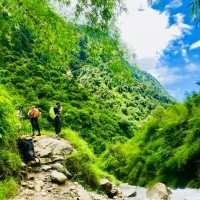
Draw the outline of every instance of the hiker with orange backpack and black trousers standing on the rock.
M33 131L33 136L35 135L35 130L38 131L38 135L40 136L40 127L38 124L38 117L41 115L41 112L35 108L35 106L32 106L31 109L28 111L28 116L31 119L31 125L32 125L32 131Z

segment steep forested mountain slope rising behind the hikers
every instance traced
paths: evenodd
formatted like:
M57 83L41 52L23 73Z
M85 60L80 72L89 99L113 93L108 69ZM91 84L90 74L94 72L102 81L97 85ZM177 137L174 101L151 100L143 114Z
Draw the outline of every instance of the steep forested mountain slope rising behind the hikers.
M49 108L60 101L63 127L80 131L100 153L172 101L129 65L118 37L65 22L43 1L1 0L0 7L0 82L24 97L25 112L40 108L43 129L52 127Z

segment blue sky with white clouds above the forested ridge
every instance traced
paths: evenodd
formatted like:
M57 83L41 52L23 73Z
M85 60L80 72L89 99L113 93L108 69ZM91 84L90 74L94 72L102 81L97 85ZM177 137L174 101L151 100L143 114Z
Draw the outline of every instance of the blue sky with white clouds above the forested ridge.
M166 3L168 2L168 3ZM180 102L199 91L200 25L190 16L190 0L125 0L118 17L123 42L136 54L138 67L154 76Z

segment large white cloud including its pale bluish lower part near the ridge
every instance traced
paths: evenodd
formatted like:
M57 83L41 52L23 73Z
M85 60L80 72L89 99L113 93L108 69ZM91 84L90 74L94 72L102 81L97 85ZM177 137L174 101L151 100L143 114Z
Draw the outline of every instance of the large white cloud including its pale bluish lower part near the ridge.
M173 1L170 6L180 6L181 3ZM161 65L159 58L164 50L172 50L173 41L181 41L184 34L190 33L192 28L184 23L184 15L174 15L175 23L169 26L170 14L152 9L146 0L126 0L126 4L129 12L119 17L119 28L122 39L134 48L139 67L164 85L182 79L179 68ZM189 62L186 50L183 49L181 53Z

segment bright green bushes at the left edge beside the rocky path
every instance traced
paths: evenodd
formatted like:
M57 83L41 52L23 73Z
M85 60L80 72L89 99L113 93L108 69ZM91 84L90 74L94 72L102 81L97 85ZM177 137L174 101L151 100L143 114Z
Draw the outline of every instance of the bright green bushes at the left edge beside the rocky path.
M13 107L15 100L0 85L0 199L16 192L21 160L17 153L18 121ZM2 181L2 182L1 182Z

